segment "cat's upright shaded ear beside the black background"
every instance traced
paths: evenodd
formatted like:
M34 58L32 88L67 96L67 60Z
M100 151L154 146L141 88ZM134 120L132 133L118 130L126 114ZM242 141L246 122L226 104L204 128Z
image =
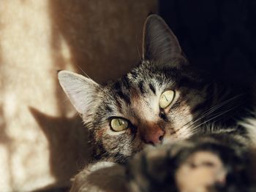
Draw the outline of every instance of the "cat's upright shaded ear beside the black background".
M173 31L158 15L150 15L143 29L143 60L157 64L177 64L177 60L187 59L182 54L181 46Z

